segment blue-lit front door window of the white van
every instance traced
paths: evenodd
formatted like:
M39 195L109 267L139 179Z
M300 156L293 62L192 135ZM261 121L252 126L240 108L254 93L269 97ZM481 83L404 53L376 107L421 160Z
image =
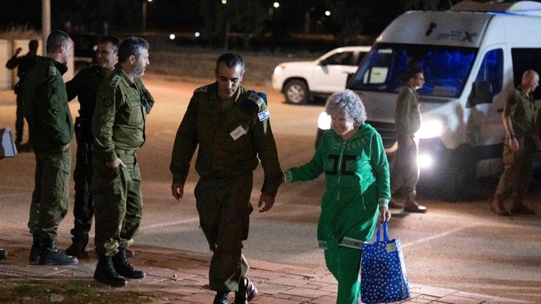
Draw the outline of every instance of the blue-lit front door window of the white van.
M488 81L492 84L492 94L496 95L502 91L504 72L504 52L501 48L488 51L481 62L481 68L477 73L475 81Z

